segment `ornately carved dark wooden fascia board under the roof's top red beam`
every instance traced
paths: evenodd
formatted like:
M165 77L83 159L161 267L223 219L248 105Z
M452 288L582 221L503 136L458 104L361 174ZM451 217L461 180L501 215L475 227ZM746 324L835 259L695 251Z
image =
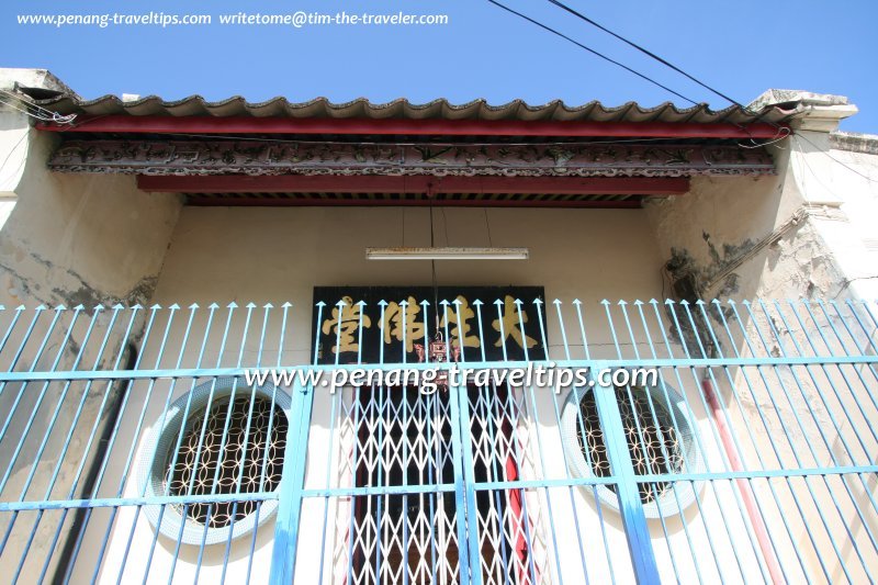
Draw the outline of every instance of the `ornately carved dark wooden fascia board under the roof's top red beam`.
M70 140L53 155L49 168L68 172L252 176L690 177L775 172L765 149L738 146L268 140Z

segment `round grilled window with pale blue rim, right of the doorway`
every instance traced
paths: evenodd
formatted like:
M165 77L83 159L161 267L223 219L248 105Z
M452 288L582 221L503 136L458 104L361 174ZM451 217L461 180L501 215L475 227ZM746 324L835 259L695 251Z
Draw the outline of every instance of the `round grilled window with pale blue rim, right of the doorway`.
M620 386L616 400L622 419L628 452L638 475L701 471L700 453L693 441L693 429L685 414L683 397L673 389ZM564 406L564 449L579 477L610 476L604 429L590 390L574 389ZM601 503L618 509L614 484L597 485ZM695 499L691 482L639 484L640 499L648 518L677 514Z

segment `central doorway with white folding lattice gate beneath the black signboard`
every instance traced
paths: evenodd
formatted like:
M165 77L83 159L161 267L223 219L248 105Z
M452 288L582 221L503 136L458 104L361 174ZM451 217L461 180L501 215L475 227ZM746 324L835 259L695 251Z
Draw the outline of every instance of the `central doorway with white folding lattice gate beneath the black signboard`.
M471 402L484 389L468 387ZM494 398L508 397L505 386L493 390ZM392 493L354 498L351 538L352 571L348 583L458 583L460 566L458 522L479 530L483 581L496 578L492 567L506 566L514 556L528 554L520 542L510 541L515 530L504 529L504 521L520 521L520 498L515 494L497 497L489 491L475 495L476 518L465 518L466 507L458 499L455 465L452 452L450 396L447 390L424 394L416 386L361 387L356 391L362 419L358 425L361 447L354 470L356 487L387 487ZM513 424L486 424L484 417L471 416L473 445L495 442L498 434L509 443ZM475 482L496 476L497 470L510 479L518 476L516 461L497 450L489 457L473 459ZM476 528L477 527L477 528ZM516 572L506 580L519 583ZM508 582L508 581L507 581Z

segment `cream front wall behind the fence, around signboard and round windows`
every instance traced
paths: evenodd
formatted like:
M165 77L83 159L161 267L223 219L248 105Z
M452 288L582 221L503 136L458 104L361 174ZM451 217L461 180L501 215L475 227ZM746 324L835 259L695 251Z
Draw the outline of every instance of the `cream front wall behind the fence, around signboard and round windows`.
M487 245L488 236L483 210L446 210L437 211L436 234L437 244L452 246ZM405 222L403 222L405 216ZM443 218L448 221L448 237ZM403 223L405 223L405 239L403 239ZM528 261L448 261L437 263L438 281L440 284L462 285L542 285L545 286L547 300L562 299L565 302L563 315L566 323L566 334L570 339L571 350L575 358L582 358L582 341L576 327L577 317L572 305L567 304L574 297L583 301L585 313L585 327L589 335L589 346L595 357L611 357L616 355L612 337L606 326L604 307L599 304L603 299L611 301L627 299L649 300L661 299L662 279L658 267L662 263L661 248L656 246L654 232L651 228L646 213L642 211L610 211L610 210L489 210L488 224L491 226L491 243L495 246L527 246L531 251ZM239 306L254 301L258 307L266 302L271 302L275 307L284 301L292 301L294 306L290 313L289 328L293 331L289 336L282 357L284 364L307 363L309 358L311 316L312 316L312 289L315 285L403 285L403 284L430 284L429 262L379 262L364 259L367 246L423 246L429 243L429 223L427 210L402 209L200 209L185 207L181 213L175 236L165 260L164 270L156 288L154 301L164 306L178 303L183 307L176 325L169 336L169 355L162 363L170 364L177 360L178 351L188 323L187 308L191 303L198 303L202 308L194 319L193 331L201 331L205 325L204 307L212 302L224 307L229 301L235 301ZM667 293L667 291L665 291ZM214 329L222 329L225 310L221 308L215 317ZM207 344L203 365L218 363L234 364L237 360L239 340L243 334L243 320L246 311L238 310L229 333L229 345L224 356L217 356L218 331L211 337ZM244 364L255 363L259 353L259 335L255 331L261 324L261 308L254 312L250 333L244 340ZM650 317L651 318L651 317ZM162 322L164 323L164 322ZM536 319L531 323L536 326ZM624 355L631 356L630 342L627 339L621 322L616 324L619 337L624 346ZM564 355L561 346L561 333L558 316L553 307L547 311L547 327L551 355L561 358ZM653 331L657 334L657 329ZM278 334L277 318L269 327L268 338L274 339ZM193 365L199 353L200 339L190 339L183 350L183 363ZM277 352L272 342L266 344L268 349L261 352L262 363L274 363ZM148 347L145 353L145 363L151 363L156 358L156 345ZM168 365L166 365L168 367ZM674 385L677 382L672 381ZM173 397L183 395L189 390L190 383L179 384L173 391ZM698 386L689 383L679 389L683 392L698 392ZM140 393L143 394L143 387ZM151 426L158 419L161 407L166 401L167 390L158 392L155 403L147 407L146 424ZM705 413L698 409L699 400L691 397L695 415L707 425ZM558 397L539 398L540 434L543 437L543 449L547 453L559 453L560 438L558 426L554 423L552 400ZM329 432L333 426L330 416L330 400L326 394L318 394L315 398L315 413L311 427L311 451L308 454L309 468L307 481L309 485L320 485L324 481L325 464L338 460L338 438ZM135 408L135 412L138 412ZM336 415L338 416L338 415ZM531 435L533 457L537 458L537 426L531 420L529 430ZM709 432L709 426L703 427L703 432ZM124 442L124 441L123 441ZM716 453L716 447L706 445L709 453ZM712 455L711 455L712 457ZM533 477L564 476L563 458L550 457L548 468L533 471ZM116 463L116 473L121 473L121 463ZM534 468L537 469L537 468ZM542 474L545 475L542 475ZM334 481L340 481L335 477ZM138 495L139 485L128 481L125 495ZM718 514L718 497L723 497L723 488L719 491L707 490L701 495L706 514L716 517ZM531 499L544 502L544 494L533 493ZM556 529L560 530L559 551L562 559L578 559L575 532L572 524L572 508L570 493L556 491L550 496L555 510ZM597 516L594 505L589 503L590 496L581 491L574 491L576 511L581 516L582 527L586 533L594 533L598 529ZM534 508L536 509L536 508ZM335 507L329 510L333 519ZM312 500L303 510L303 532L301 536L300 559L303 559L299 570L303 582L313 580L317 569L316 558L319 555L323 541L319 538L323 525L323 504ZM616 515L612 510L605 510L609 516ZM738 513L741 517L740 511ZM110 542L108 561L103 570L103 577L113 581L119 571L131 532L134 511L125 510L120 516L116 530ZM539 511L541 518L541 538L543 550L552 549L552 535L549 531L547 508ZM693 530L703 530L698 514L690 514L689 526ZM735 533L739 525L732 520L731 533ZM101 522L97 522L100 526ZM740 524L740 520L739 520ZM254 578L259 581L268 571L267 560L271 553L270 536L273 522L260 530L257 542L257 562L254 565ZM699 528L700 527L700 528ZM626 574L628 551L624 544L624 533L621 524L610 519L607 525L616 559L617 570L620 575ZM652 522L651 530L655 538L656 547L664 547L661 526ZM673 547L679 551L687 544L686 535L682 525L677 522L672 527ZM329 532L333 539L340 538L335 533L330 524ZM151 547L155 531L140 516L134 528L133 550L148 550ZM727 532L728 535L728 532ZM100 541L102 535L95 533L94 540ZM725 537L734 538L734 537ZM91 538L89 540L92 540ZM228 577L239 578L247 570L246 550L249 548L248 538L235 542L229 560ZM698 547L703 543L696 542ZM215 547L214 547L215 548ZM210 548L210 549L214 549ZM198 549L196 547L194 549ZM222 549L222 547L219 547ZM327 543L327 551L334 550L333 543ZM700 548L699 548L700 550ZM92 551L93 552L93 551ZM203 578L222 571L222 550L217 553L209 551L209 566L202 569ZM83 551L83 561L88 559ZM589 554L592 554L589 552ZM700 553L699 553L700 554ZM150 569L150 578L167 580L170 566L173 564L175 544L164 538L158 540ZM181 582L190 578L194 569L193 560L198 551L183 547L180 560L175 565L175 578ZM664 572L671 571L666 555L662 556ZM144 570L144 559L130 556L126 575L138 578ZM207 562L207 561L205 561ZM594 562L600 564L601 561ZM723 571L731 571L731 558L719 559L724 566ZM88 562L82 563L88 566ZM567 570L575 572L572 564L563 563ZM325 571L331 570L333 562L327 560ZM545 561L547 567L553 569L553 561ZM597 565L595 565L597 566ZM691 571L691 566L685 569ZM753 570L756 570L754 566ZM596 570L596 574L600 571Z

